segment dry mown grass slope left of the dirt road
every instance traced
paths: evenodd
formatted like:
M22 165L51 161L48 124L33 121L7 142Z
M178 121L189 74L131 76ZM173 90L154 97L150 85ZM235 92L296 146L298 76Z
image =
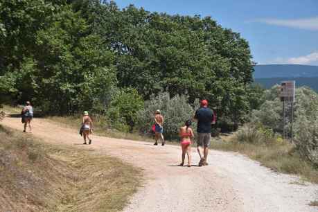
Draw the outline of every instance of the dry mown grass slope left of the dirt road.
M121 211L141 173L118 159L1 127L0 211Z

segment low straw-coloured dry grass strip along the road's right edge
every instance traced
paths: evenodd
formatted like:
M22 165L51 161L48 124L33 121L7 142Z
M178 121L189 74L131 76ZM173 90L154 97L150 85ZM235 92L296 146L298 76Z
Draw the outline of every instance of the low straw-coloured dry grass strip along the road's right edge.
M318 184L317 168L302 159L288 141L269 144L239 143L233 138L232 141L227 142L211 142L211 148L240 152L279 173L299 175L307 181Z

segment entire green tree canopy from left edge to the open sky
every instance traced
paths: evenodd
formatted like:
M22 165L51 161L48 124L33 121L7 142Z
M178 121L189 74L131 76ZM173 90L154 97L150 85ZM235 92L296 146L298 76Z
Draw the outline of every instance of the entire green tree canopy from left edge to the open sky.
M0 94L47 112L103 112L114 91L206 98L234 123L251 110L251 52L211 17L114 1L2 0ZM96 106L98 105L98 106Z

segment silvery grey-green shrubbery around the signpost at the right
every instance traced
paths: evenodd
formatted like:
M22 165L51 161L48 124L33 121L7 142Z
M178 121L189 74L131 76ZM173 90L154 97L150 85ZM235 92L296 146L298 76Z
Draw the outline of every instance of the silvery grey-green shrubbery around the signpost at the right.
M318 94L308 87L296 89L294 103L294 138L297 150L302 157L318 166ZM282 103L278 98L277 87L265 91L266 101L259 110L251 113L251 123L261 123L266 128L281 133ZM286 106L286 114L290 114L290 104ZM290 121L289 117L286 117ZM285 129L290 129L290 124ZM291 136L291 132L288 132Z

